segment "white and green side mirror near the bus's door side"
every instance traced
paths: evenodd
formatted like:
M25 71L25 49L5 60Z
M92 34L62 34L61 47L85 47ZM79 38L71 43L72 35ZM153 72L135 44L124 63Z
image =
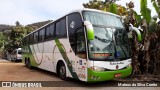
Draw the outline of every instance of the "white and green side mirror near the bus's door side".
M92 26L91 22L84 21L84 25L86 26L86 29L87 29L87 39L93 40L94 39L94 31L93 31L93 26Z

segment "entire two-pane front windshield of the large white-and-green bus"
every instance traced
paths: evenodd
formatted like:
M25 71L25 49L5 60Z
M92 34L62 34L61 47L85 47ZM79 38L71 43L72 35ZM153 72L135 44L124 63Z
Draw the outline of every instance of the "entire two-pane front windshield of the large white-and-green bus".
M95 38L88 41L92 60L124 60L130 58L128 37L120 18L84 12L84 19L93 24Z

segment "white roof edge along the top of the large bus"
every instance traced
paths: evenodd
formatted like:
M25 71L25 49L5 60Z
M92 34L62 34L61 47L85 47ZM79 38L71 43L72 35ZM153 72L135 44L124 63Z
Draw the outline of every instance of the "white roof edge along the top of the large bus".
M71 13L76 13L76 12L81 13L82 11L93 11L93 12L104 13L104 14L109 14L109 15L113 15L113 16L116 16L116 17L120 17L119 15L116 15L116 14L113 14L113 13L110 13L110 12L104 12L104 11L100 11L100 10L96 10L96 9L89 9L89 8L76 9L76 10L73 10L73 11L65 14L64 16L66 16L66 15L68 15L68 14L71 14ZM40 28L32 31L31 33L27 34L26 36L28 36L28 35L36 32L36 31L38 31L39 29L42 29L42 28L46 27L47 25L50 25L50 24L54 23L55 21L61 19L61 18L64 17L64 16L61 16L60 18L58 18L58 19L56 19L56 20L53 20L53 21L51 21L51 22L43 25L42 27L40 27ZM26 36L25 36L25 37L26 37Z

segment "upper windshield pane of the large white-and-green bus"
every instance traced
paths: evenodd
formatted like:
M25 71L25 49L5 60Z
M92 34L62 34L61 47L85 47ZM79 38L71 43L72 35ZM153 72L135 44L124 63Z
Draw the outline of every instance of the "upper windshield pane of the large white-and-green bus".
M83 15L84 19L93 25L124 28L121 19L113 15L90 11L84 11Z

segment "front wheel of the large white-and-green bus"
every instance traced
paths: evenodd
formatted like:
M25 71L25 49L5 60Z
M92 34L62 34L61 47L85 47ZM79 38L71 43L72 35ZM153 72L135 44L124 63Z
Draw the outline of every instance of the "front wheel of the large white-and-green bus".
M58 74L59 74L59 77L62 79L62 80L67 80L68 78L66 77L66 67L64 65L64 63L60 63L60 67L59 67L59 70L58 70Z

